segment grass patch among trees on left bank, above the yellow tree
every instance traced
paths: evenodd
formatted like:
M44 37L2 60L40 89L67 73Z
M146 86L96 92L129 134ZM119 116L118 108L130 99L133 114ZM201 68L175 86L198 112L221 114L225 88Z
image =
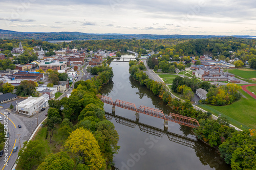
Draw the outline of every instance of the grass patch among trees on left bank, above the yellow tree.
M46 133L47 133L47 128L39 128L37 131L37 134L32 139L32 140L39 140L44 145L45 150L44 150L44 153L42 154L47 156L51 153L55 154L60 152L60 149L62 149L60 144L61 136L58 135L57 130L54 131L54 135L52 137L51 143L49 143L49 139L50 139L49 135L48 135L48 138L46 139ZM42 161L44 161L44 159L42 159L41 162ZM38 165L35 165L35 166L37 167ZM22 168L19 165L16 166L16 169L22 170ZM33 168L33 169L36 169L36 168Z

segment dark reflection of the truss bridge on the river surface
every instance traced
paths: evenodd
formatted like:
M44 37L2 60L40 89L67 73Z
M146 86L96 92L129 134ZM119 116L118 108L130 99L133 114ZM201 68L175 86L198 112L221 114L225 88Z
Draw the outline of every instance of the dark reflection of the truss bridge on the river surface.
M195 140L195 139L191 139L186 136L178 135L176 133L168 132L165 129L160 129L160 128L156 128L156 127L153 127L150 125L140 123L138 121L138 119L132 120L132 119L118 116L118 115L115 115L115 114L112 114L109 112L105 112L105 117L106 117L106 119L109 119L109 120L112 120L112 118L114 117L118 124L122 124L122 125L125 125L128 127L131 127L131 128L135 128L138 125L138 127L140 128L141 131L158 136L158 137L163 137L163 135L166 134L170 141L185 145L186 147L189 147L189 148L194 149L195 144L197 142L197 140Z

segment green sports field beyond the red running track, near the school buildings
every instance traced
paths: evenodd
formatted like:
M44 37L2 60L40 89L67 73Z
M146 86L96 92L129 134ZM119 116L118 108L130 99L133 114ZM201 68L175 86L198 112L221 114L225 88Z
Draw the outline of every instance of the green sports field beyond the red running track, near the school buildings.
M250 78L256 78L256 70L249 68L240 68L240 69L228 69L228 72L246 79L248 83L256 83L256 81L249 80Z

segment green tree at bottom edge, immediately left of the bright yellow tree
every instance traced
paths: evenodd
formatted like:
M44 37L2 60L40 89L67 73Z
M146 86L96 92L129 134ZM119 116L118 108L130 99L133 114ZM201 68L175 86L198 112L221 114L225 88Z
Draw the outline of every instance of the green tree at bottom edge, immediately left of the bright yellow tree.
M37 170L73 170L75 167L74 161L69 157L67 152L59 152L48 155Z

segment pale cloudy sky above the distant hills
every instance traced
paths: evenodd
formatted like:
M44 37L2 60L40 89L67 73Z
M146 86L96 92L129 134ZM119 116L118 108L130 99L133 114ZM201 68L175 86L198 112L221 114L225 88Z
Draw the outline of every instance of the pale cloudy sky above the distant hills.
M1 0L0 29L21 32L256 36L251 0Z

